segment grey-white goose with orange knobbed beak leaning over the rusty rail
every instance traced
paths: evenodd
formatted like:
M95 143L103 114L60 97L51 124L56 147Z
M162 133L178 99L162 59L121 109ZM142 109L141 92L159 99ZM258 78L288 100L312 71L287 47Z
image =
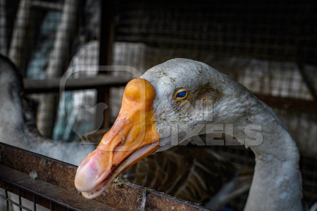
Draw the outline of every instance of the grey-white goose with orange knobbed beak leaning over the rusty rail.
M94 198L140 159L219 130L255 154L244 210L302 210L299 151L285 124L243 85L191 59L168 60L126 85L120 113L79 165L75 187Z

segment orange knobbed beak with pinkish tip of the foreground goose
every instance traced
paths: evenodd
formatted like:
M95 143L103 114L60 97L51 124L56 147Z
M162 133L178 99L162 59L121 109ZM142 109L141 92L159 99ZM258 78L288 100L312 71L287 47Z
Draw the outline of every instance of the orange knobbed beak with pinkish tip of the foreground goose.
M126 85L116 121L76 171L75 186L83 196L100 195L122 171L159 148L154 98L155 91L145 79L136 78Z

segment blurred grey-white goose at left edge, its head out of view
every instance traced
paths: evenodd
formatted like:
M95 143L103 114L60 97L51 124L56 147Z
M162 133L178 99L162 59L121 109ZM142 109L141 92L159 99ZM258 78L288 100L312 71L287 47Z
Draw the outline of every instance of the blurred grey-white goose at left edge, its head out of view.
M1 54L0 89L0 142L74 165L79 165L96 148L95 145L81 145L80 142L62 142L43 137L36 128L30 101L24 96L19 70L10 59ZM0 191L4 192L2 189ZM9 193L9 197L18 202L17 195ZM33 209L33 202L22 198L22 204ZM4 200L0 201L0 209L6 209ZM37 209L49 210L39 205ZM13 210L19 208L13 206Z

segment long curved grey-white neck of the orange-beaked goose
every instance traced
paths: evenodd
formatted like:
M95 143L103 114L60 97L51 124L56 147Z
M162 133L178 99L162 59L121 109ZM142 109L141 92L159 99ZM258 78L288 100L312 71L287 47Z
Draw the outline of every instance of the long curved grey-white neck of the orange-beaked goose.
M297 146L274 111L244 89L216 108L214 119L232 124L233 136L255 153L255 173L245 210L301 210ZM220 117L225 112L227 121Z

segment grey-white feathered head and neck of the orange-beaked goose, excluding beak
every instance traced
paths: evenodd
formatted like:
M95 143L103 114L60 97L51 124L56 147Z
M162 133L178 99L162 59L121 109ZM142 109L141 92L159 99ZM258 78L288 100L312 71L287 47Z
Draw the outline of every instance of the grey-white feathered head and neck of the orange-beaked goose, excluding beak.
M243 85L191 59L168 60L150 68L141 78L148 80L156 92L153 110L161 136L159 151L197 134L214 133L208 124L232 125L236 142L250 147L256 155L245 210L302 210L298 148L283 121L264 102ZM175 106L175 90L185 87L195 92L207 84L221 93L216 101L209 97L196 106L189 106L190 100L181 108ZM210 112L204 113L206 110ZM250 130L250 125L256 126L256 132ZM249 139L250 134L261 139Z

